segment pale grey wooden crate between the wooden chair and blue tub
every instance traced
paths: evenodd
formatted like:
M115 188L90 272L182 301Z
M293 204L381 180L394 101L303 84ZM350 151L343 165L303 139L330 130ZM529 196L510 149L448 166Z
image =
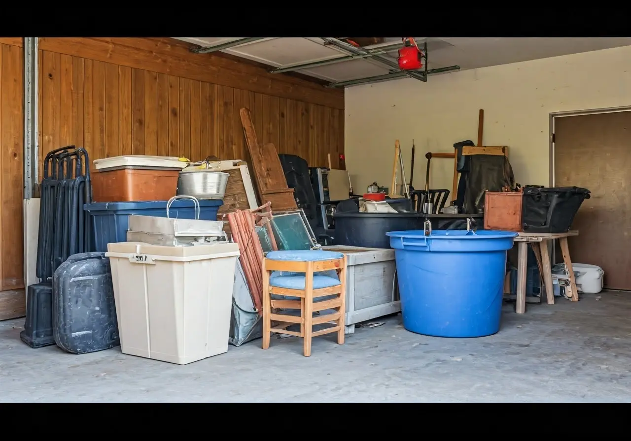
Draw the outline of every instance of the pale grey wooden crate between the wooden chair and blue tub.
M323 246L346 255L346 333L355 323L401 311L396 284L394 249L360 246Z

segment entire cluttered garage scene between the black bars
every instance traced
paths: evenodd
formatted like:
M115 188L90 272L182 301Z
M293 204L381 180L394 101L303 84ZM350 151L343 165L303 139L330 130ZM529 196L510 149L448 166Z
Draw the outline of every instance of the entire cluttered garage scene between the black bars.
M631 38L543 40L0 38L0 399L627 401Z

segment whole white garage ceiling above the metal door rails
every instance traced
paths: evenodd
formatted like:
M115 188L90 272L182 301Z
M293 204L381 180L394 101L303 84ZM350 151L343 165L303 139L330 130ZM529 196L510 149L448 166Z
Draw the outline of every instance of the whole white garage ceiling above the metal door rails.
M335 45L327 45L331 38L233 38L233 37L175 37L199 45L205 52L221 50L227 54L266 64L270 71L294 71L329 81L329 86L343 87L373 83L372 80L403 77L395 72L397 50L403 46L401 38L384 38L378 45L360 50L377 54L375 57L355 55ZM591 50L631 45L631 38L427 38L415 37L419 47L427 43L428 74L441 71L476 69L558 55L577 54ZM337 40L339 41L339 40ZM384 64L384 60L391 66ZM305 66L310 65L310 66ZM458 69L459 68L459 69ZM433 72L432 72L433 71ZM379 76L386 76L379 78ZM377 77L377 78L375 78ZM370 81L365 81L369 79Z

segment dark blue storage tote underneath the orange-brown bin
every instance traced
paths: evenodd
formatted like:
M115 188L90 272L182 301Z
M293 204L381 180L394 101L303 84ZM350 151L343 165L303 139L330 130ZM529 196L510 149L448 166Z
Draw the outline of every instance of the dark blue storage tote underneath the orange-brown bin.
M107 244L127 241L129 216L167 217L166 200L152 200L149 202L98 202L86 203L83 209L90 212L94 232L94 251L107 251ZM199 200L199 219L201 221L216 221L217 211L223 205L223 200ZM196 207L191 200L174 200L169 208L169 215L173 219L195 219Z

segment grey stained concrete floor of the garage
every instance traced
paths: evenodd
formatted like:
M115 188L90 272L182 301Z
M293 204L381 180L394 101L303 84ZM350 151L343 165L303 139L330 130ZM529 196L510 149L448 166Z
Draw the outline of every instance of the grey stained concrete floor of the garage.
M629 402L631 293L572 303L504 305L502 329L475 339L416 335L401 316L374 320L337 345L261 340L190 365L123 355L71 355L20 340L24 319L0 322L3 402Z

